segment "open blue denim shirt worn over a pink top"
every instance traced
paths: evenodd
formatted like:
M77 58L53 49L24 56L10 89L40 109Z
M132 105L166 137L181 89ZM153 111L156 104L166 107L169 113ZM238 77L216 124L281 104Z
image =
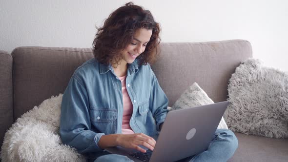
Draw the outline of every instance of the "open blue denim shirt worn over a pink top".
M130 126L135 133L155 137L167 115L168 99L150 65L128 64L126 89L133 104ZM63 94L62 142L80 153L103 151L103 135L121 134L122 84L109 65L91 59L74 72Z

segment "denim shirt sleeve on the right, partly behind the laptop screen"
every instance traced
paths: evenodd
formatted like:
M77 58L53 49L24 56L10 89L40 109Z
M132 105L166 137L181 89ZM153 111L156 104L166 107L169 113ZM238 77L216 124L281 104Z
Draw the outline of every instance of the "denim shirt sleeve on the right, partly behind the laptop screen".
M151 70L152 80L151 80L151 93L150 93L150 109L153 114L153 118L156 121L157 131L160 131L160 124L165 121L168 113L168 98L164 91L159 85L159 82Z

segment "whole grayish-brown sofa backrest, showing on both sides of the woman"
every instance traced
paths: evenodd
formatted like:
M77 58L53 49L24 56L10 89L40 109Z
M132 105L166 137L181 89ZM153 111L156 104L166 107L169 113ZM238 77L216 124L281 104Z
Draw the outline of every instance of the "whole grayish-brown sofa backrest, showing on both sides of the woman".
M18 47L13 50L14 120L52 95L63 93L73 72L93 58L89 48ZM172 106L197 82L215 102L227 98L235 68L252 57L248 41L161 43L161 58L152 68Z

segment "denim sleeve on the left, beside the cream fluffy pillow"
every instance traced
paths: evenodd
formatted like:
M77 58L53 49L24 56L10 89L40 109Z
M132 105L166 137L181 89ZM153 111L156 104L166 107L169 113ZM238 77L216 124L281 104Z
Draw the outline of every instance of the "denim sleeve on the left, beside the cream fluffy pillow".
M76 74L63 94L60 135L64 144L76 148L80 153L102 151L98 142L104 133L91 131L89 98L85 85Z

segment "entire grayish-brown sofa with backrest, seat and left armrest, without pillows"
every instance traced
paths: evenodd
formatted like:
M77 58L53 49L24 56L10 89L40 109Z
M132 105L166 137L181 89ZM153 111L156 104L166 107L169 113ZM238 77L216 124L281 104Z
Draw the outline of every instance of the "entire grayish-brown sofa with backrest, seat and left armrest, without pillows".
M17 118L63 93L74 70L92 57L88 48L18 47L11 55L0 51L0 143ZM231 74L249 57L251 45L244 40L161 43L161 58L152 68L169 106L193 82L219 102L226 101ZM288 162L288 139L235 134L239 147L230 162Z

